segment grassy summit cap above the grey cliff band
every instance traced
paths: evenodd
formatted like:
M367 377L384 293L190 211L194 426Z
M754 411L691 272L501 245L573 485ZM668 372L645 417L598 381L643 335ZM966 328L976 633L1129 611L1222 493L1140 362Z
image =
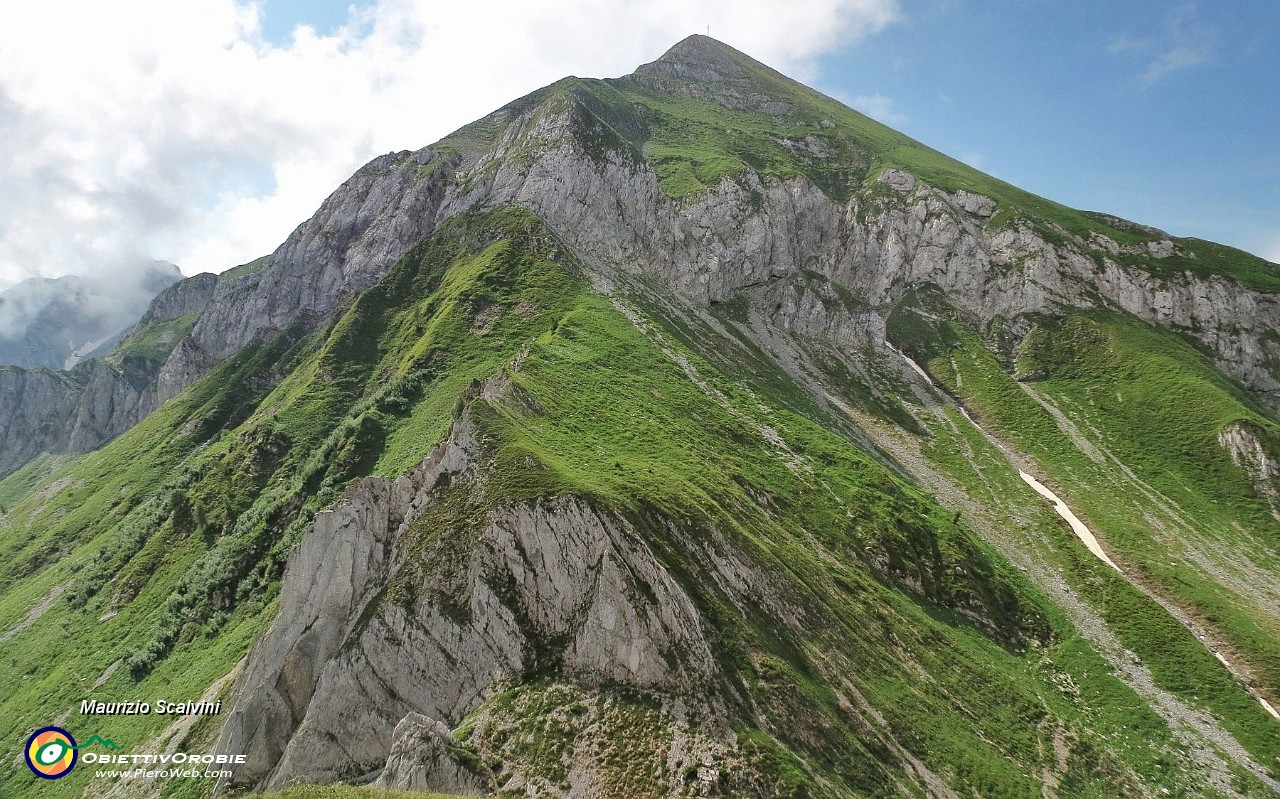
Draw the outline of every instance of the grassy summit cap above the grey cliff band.
M664 61L682 63L696 51L710 74L662 76ZM751 170L763 179L805 177L837 202L870 186L884 169L902 169L942 191L966 191L997 202L987 223L998 229L1027 225L1050 241L1093 250L1092 234L1134 247L1124 262L1157 275L1189 271L1224 275L1254 291L1280 291L1280 266L1211 242L1179 238L1185 255L1157 259L1142 246L1165 234L1066 207L984 174L841 102L777 73L714 40L692 36L654 64L616 79L564 78L532 92L433 145L440 152L489 152L509 124L530 109L572 104L596 131L588 151L626 152L649 163L675 198L707 192L724 178Z

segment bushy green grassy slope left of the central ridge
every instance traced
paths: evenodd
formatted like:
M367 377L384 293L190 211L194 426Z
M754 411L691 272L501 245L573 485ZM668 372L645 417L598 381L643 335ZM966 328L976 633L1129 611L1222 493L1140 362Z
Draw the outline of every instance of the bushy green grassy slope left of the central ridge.
M468 375L509 359L521 335L549 324L554 298L538 305L545 292L520 284L536 283L535 270L504 256L500 243L468 250L433 293L460 248L497 238L484 225L466 233L467 242L445 233L412 252L332 330L250 347L104 449L64 464L45 458L0 481L8 510L0 629L54 599L0 645L0 682L15 686L0 698L0 718L12 722L15 748L24 731L84 698L197 698L269 621L284 557L311 515L380 456L399 467L422 457ZM477 303L513 292L527 305L498 320L494 335L475 335ZM388 297L408 309L389 307ZM385 339L385 364L378 343L372 355L352 347L355 328L364 335L392 316L399 327ZM444 369L453 356L457 367ZM434 405L420 407L422 388L436 378ZM73 731L101 722L104 734L131 745L166 725L155 716L79 720L73 712L70 720ZM5 795L36 790L26 776L9 773ZM41 795L78 793L84 779L78 772L41 785Z

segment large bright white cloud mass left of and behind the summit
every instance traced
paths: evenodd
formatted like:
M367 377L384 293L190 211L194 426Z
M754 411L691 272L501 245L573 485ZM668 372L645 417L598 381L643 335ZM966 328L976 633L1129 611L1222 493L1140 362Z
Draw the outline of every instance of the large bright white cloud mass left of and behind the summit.
M797 78L897 0L526 0L353 8L261 36L261 0L42 0L0 27L0 283L273 250L361 163L710 26Z

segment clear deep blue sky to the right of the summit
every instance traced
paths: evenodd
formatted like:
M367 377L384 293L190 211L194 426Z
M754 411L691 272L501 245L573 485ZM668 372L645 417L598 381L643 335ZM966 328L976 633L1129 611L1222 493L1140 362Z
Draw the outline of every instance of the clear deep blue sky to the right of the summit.
M883 122L1052 200L1280 260L1280 3L901 14L822 56L819 88L872 97Z

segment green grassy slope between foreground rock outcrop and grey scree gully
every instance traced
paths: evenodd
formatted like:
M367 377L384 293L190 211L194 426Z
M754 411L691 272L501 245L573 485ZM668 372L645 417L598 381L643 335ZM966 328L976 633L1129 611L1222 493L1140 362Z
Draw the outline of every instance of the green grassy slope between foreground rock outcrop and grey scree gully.
M786 575L810 630L799 643L776 620L749 617L744 625L714 593L695 588L695 595L727 631L717 644L772 720L773 735L760 745L782 747L771 757L788 791L831 795L831 784L865 795L884 790L883 761L893 755L850 727L840 685L856 686L909 752L982 795L1037 790L1044 764L1038 758L1052 750L1056 725L1093 741L1064 764L1084 794L1124 791L1130 768L1151 779L1171 767L1178 747L1158 718L1135 709L1140 700L950 513L847 442L663 339L736 412L708 402L668 356L639 341L603 301L596 305L540 341L513 375L532 399L527 405L545 412L502 414L486 426L509 442L499 462L520 465L499 487L516 496L570 490L632 513L710 520L753 562ZM568 341L559 341L561 332ZM749 420L778 432L803 464L799 474L782 452L760 456L763 442ZM751 490L769 493L769 510ZM687 543L662 545L672 551L668 566L696 562ZM928 588L908 588L915 585ZM961 608L982 608L982 624L965 624ZM1076 671L1066 671L1071 666ZM928 677L904 684L913 672ZM1055 681L1065 674L1083 695L1107 699L1078 703ZM992 695L1002 700L993 706ZM1097 722L1084 722L1094 714ZM826 732L813 740L813 730ZM746 740L756 735L744 732ZM1103 743L1108 736L1125 743ZM786 761L797 767L783 768ZM1160 781L1196 784L1185 776Z

